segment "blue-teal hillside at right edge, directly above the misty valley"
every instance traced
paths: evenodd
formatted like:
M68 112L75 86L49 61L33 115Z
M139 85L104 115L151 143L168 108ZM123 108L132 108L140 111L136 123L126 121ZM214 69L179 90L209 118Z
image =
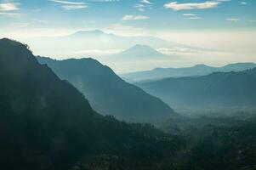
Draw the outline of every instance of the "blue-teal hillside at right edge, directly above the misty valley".
M256 68L239 72L215 72L208 76L167 78L138 85L177 110L255 108L255 72Z

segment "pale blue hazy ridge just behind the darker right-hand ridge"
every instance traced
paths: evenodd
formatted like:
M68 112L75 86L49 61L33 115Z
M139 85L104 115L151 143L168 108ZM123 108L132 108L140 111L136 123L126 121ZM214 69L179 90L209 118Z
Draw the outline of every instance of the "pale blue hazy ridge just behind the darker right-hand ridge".
M236 63L225 65L223 67L212 67L208 65L195 65L185 68L156 68L151 71L139 71L120 75L121 77L131 81L148 81L157 80L167 77L195 77L208 75L216 71L244 71L256 67L254 63Z

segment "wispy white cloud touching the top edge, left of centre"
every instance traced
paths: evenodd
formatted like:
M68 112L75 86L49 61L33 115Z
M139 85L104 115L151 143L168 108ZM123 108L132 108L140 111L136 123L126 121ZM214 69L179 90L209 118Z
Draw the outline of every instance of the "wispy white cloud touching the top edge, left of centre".
M88 8L87 3L83 2L71 2L71 1L61 1L61 0L48 0L54 3L60 3L62 8L66 10L71 9L81 9L81 8Z

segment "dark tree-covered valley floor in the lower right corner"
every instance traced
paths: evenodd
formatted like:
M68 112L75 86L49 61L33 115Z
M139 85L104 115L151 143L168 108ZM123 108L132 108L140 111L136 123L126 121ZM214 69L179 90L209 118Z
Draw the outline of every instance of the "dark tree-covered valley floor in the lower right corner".
M256 112L185 116L158 122L185 139L177 169L250 169L256 167Z

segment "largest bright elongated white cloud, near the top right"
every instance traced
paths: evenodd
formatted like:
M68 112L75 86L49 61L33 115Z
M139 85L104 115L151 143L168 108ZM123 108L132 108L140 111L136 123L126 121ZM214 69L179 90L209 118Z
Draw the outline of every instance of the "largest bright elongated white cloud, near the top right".
M220 2L206 1L204 3L166 3L164 8L172 8L173 10L185 10L185 9L202 9L202 8L215 8L218 7Z

